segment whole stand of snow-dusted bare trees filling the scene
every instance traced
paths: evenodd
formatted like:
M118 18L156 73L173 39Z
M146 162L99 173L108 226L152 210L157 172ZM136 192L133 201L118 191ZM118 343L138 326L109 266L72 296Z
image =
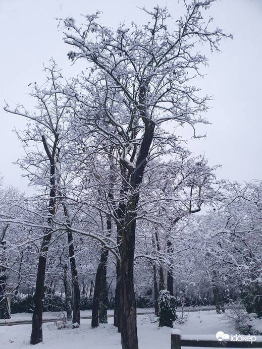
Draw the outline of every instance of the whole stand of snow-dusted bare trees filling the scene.
M174 307L239 301L262 317L262 182L218 180L179 133L208 123L202 47L232 37L206 20L212 3L185 1L177 21L143 9L146 24L116 31L98 12L60 20L85 70L64 77L52 59L29 87L35 108L6 105L28 121L17 163L35 194L0 187L0 319L10 304L32 312L31 344L43 310L77 328L80 309L92 327L114 309L122 348L137 349L136 309L159 314L163 290Z

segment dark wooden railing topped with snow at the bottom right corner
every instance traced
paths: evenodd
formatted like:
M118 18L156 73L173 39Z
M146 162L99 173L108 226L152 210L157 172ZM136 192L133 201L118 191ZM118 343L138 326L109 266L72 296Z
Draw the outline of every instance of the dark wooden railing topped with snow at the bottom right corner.
M247 336L244 336L247 337ZM237 340L235 336L219 341L216 335L181 335L179 329L171 332L171 349L181 349L181 346L221 347L221 348L262 348L262 336L249 336L247 340ZM252 342L251 342L251 337ZM255 337L255 340L254 340Z

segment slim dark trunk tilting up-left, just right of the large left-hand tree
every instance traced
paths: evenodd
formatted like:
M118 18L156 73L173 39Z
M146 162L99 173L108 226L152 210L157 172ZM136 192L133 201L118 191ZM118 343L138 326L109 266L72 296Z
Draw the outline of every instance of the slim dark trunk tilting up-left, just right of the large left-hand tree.
M67 220L67 238L68 238L68 249L69 249L69 258L70 258L70 267L73 280L73 293L74 293L74 304L73 304L73 327L78 327L80 325L80 287L78 282L78 274L76 268L76 259L75 259L75 249L73 234L71 230L71 221L69 218L69 213L66 205L63 203L64 213Z

